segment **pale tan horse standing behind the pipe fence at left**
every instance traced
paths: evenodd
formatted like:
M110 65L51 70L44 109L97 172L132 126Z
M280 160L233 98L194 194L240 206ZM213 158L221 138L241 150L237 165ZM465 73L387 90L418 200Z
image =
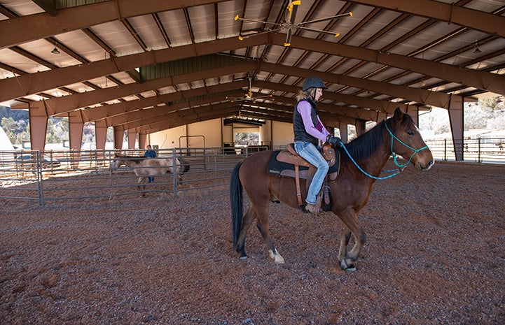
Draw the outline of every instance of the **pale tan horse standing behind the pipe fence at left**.
M146 189L146 178L148 177L171 173L177 176L177 182L181 182L181 174L189 170L188 162L178 157L176 157L174 161L174 159L169 157L147 158L122 154L116 154L114 156L109 170L113 173L113 171L123 165L127 168L131 168L135 175L139 177L137 185L138 188L142 190ZM144 196L144 192L142 192L141 196Z

